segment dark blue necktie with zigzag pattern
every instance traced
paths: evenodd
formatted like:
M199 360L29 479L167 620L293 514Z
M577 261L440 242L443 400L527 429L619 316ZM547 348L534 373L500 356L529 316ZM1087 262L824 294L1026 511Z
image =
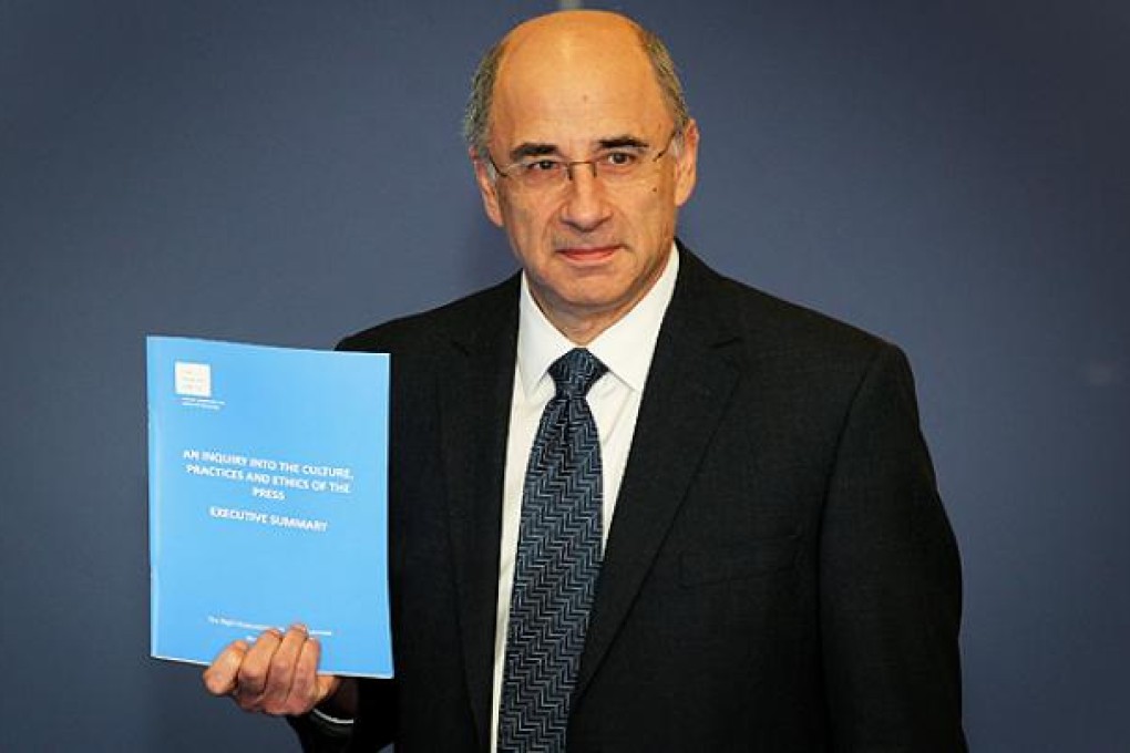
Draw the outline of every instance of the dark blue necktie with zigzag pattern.
M585 395L608 367L576 348L549 367L557 394L522 493L498 753L563 753L601 560L600 440Z

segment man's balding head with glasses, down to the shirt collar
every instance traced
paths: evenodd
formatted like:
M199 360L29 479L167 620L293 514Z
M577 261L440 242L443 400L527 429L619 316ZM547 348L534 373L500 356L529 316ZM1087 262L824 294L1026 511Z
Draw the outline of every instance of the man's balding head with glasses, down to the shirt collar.
M654 286L695 185L697 128L672 113L644 38L616 14L551 14L511 32L478 79L484 209L577 344Z

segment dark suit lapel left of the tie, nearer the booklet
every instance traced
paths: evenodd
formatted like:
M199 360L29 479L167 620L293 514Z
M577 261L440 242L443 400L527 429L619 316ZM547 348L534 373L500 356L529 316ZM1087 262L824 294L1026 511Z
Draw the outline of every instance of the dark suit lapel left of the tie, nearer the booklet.
M516 278L450 341L440 386L452 558L468 693L481 747L489 743L495 607L506 432L518 341Z

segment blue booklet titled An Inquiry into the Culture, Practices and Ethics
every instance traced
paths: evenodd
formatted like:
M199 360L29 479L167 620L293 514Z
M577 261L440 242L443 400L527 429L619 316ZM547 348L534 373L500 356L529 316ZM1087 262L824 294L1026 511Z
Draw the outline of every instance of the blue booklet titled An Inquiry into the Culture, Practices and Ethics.
M389 357L148 338L151 654L305 624L392 676Z

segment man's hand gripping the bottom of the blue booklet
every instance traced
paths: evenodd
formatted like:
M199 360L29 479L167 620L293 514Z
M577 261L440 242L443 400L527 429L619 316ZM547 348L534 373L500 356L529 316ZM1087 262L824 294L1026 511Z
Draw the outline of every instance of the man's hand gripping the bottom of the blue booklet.
M254 643L237 640L205 669L212 695L231 695L244 711L302 715L341 688L334 675L318 674L321 646L303 625L286 633L264 630Z

